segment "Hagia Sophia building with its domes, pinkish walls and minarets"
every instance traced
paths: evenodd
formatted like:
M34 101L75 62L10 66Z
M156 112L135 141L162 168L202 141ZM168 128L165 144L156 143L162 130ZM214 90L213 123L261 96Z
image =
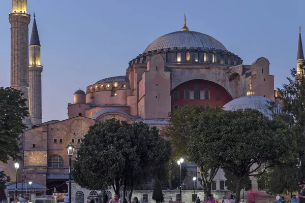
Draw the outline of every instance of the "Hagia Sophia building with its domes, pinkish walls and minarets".
M31 17L33 29L28 42ZM30 117L24 120L29 128L20 138L23 160L19 161L17 171L18 193L24 174L33 181L31 187L37 196L51 194L54 190L67 192L69 157L66 146L72 143L77 150L88 128L98 121L144 122L163 128L168 125L169 112L187 105L202 105L206 110L255 108L268 116L267 101L279 102L275 76L269 74L268 59L261 57L253 59L252 64L243 64L240 56L215 38L190 31L185 18L182 29L163 35L145 50L140 50L140 54L128 63L126 73L92 81L86 89L76 90L73 103L68 104L66 120L42 123L41 44L35 15L27 13L26 0L12 0L9 22L11 87L24 93L30 111ZM303 59L299 32L297 67ZM11 179L7 195L12 197L16 178L14 161L0 163L0 170ZM197 167L190 163L184 180L186 189L193 187L191 178L194 175L197 176ZM226 191L224 181L224 173L220 170L212 192ZM199 182L195 188L202 188ZM252 188L258 189L256 181ZM76 183L73 183L72 191L73 202L84 202L89 194L96 194ZM111 192L113 194L111 189L104 192L108 198L112 196ZM82 199L75 199L75 195Z

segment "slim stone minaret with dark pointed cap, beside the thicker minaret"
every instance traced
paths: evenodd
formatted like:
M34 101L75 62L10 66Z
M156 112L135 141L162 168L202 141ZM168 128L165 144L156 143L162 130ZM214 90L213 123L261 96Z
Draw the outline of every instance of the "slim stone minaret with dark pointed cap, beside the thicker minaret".
M42 65L40 61L40 41L36 25L35 13L31 35L29 42L29 107L31 111L32 124L41 123L41 72Z

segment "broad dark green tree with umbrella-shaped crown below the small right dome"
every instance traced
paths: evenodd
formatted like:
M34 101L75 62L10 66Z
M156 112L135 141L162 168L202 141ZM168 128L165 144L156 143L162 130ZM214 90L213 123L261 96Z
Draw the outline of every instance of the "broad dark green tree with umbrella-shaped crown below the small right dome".
M193 123L189 155L191 160L232 172L235 191L240 191L248 176L258 176L274 165L295 163L295 148L291 131L281 121L253 109L216 109L203 112ZM237 192L235 202L239 199Z

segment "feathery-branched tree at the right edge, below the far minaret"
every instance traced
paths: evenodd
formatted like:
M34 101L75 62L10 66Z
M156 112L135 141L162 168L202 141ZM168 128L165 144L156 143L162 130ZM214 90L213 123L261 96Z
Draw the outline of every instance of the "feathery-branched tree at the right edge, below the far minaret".
M305 173L305 76L304 62L300 66L301 73L297 74L296 69L290 71L292 78L287 78L288 83L278 88L279 99L281 100L281 111L276 103L270 104L274 118L288 124L294 132L297 141L298 164L290 166L278 166L271 168L268 173L260 177L260 183L271 193L283 193L284 191L294 192L298 189L296 180L304 180Z

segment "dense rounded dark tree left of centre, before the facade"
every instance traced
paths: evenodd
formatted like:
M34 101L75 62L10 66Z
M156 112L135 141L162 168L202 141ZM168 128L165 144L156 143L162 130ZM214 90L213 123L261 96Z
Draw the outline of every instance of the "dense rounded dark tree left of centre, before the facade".
M134 186L161 177L170 157L170 144L156 127L139 122L106 120L91 126L74 164L76 183L87 189ZM163 171L163 173L162 173ZM132 192L132 191L131 191Z

